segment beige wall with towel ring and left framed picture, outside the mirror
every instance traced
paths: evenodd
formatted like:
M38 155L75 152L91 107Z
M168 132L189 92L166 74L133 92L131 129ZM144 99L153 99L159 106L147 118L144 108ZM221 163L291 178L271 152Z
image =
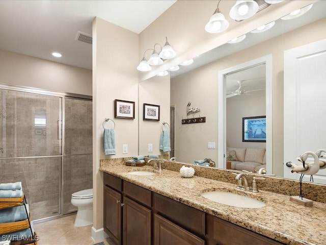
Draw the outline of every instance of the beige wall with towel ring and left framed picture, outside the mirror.
M103 173L100 159L138 155L138 34L93 20L93 227L103 227ZM114 100L135 102L135 119L114 118ZM102 122L115 121L116 155L103 153ZM128 144L128 154L122 154Z

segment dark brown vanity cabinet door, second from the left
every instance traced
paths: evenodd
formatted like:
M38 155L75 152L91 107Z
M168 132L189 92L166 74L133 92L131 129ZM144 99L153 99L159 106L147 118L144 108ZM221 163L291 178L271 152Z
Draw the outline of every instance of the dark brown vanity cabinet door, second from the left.
M151 245L151 215L150 209L123 198L124 245Z

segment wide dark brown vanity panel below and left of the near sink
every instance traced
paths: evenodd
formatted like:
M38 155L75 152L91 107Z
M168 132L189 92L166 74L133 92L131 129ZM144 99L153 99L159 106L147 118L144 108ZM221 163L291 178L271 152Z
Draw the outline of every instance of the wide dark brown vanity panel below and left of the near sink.
M196 234L205 235L205 213L196 208L154 193L154 209L176 224Z

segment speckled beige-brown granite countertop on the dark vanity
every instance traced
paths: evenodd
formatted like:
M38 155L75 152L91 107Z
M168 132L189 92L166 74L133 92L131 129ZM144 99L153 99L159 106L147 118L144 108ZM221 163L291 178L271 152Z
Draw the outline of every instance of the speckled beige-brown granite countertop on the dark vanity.
M198 176L182 178L179 172L167 169L151 176L128 174L135 170L153 171L151 166L132 167L101 162L99 170L285 244L326 245L324 203L313 202L312 207L304 207L291 202L287 195L263 190L258 193L243 191L236 189L235 184ZM256 198L266 206L239 208L201 196L202 192L221 189Z

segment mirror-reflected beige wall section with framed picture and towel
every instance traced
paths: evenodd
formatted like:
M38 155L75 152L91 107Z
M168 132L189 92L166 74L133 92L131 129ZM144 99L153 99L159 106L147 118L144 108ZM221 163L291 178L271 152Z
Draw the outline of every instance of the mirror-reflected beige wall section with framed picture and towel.
M153 77L139 84L139 154L161 155L159 138L162 122L170 124L170 76ZM143 104L160 106L159 121L143 120ZM148 152L148 144L153 144L153 152Z

